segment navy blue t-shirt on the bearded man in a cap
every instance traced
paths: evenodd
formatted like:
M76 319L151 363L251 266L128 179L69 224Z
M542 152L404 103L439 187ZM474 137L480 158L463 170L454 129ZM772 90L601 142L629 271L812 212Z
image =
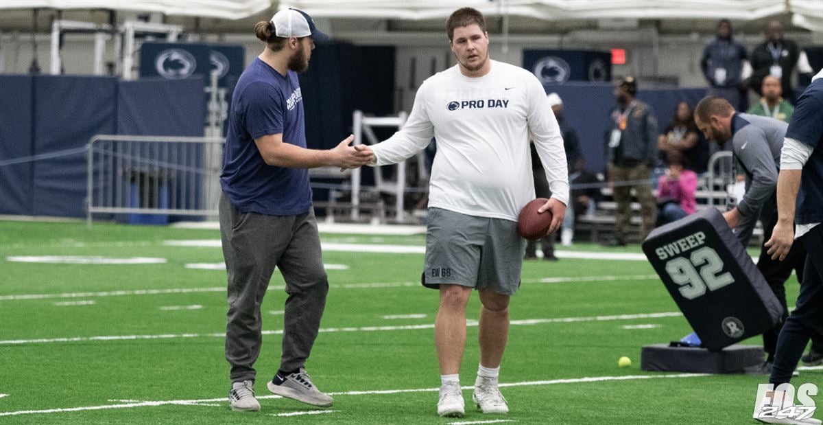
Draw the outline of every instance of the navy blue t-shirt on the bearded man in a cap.
M254 139L283 134L283 142L306 147L300 82L282 76L260 58L246 68L231 96L229 129L220 184L240 212L294 216L311 208L309 170L269 166Z

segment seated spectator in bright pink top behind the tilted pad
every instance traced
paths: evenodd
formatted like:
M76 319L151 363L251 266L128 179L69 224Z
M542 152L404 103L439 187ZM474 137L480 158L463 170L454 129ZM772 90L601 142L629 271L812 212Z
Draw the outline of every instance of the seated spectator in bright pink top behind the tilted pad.
M695 213L697 174L686 170L686 156L679 151L666 155L668 168L658 180L658 226Z

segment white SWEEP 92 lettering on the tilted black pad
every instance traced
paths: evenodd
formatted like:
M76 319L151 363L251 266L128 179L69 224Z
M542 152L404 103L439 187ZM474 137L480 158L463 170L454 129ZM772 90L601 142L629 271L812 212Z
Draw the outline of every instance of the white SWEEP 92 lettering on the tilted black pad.
M702 231L686 236L678 241L664 245L655 250L660 259L671 258L686 250L703 245L705 234ZM703 296L707 291L717 291L734 283L732 273L723 271L723 260L710 246L701 246L691 252L689 258L677 257L666 262L666 273L672 282L680 286L681 295L687 300Z

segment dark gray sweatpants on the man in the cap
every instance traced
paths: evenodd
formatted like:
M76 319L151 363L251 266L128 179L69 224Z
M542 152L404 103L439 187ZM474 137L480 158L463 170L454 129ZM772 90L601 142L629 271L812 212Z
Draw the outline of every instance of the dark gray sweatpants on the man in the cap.
M231 365L230 380L254 381L253 364L263 341L260 306L275 266L286 281L288 294L280 368L303 367L317 338L328 293L314 209L285 217L239 212L221 194L220 235L229 279L226 360Z

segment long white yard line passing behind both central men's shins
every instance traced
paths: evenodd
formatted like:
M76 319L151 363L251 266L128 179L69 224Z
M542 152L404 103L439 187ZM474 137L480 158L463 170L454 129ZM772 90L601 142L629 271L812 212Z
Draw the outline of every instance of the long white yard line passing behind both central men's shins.
M579 323L579 322L599 322L611 320L635 320L635 319L661 319L665 317L679 317L683 315L681 312L671 311L663 313L649 313L639 315L594 315L584 317L555 317L551 319L526 319L526 320L511 320L511 325L542 325L546 323ZM467 326L477 326L477 320L467 320ZM417 329L434 329L434 324L420 324L420 325L400 325L400 326L361 326L361 327L343 327L343 328L321 328L320 332L337 333L337 332L379 332L390 330L417 330ZM264 330L264 335L279 335L282 334L282 329ZM76 343L82 341L122 341L122 340L137 340L137 339L184 339L184 338L225 338L226 334L223 332L213 334L160 334L160 335L104 335L91 337L72 337L72 338L42 338L42 339L7 339L0 341L0 345L15 345L26 343Z

